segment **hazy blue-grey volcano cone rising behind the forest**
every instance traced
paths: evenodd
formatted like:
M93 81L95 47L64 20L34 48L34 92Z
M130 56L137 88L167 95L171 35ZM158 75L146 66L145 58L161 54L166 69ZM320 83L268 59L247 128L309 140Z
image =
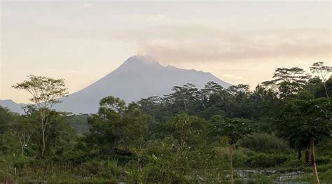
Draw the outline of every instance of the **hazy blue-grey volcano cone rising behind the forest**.
M211 73L162 66L152 57L134 56L104 78L70 94L55 108L73 113L95 113L99 100L109 95L131 102L144 97L169 94L174 85L193 83L202 88L208 81L214 81L223 87L230 85Z

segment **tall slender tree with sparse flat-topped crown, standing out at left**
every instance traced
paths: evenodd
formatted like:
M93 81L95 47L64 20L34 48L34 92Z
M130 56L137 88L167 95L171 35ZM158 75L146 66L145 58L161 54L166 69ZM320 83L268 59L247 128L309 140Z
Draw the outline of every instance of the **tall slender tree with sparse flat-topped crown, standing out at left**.
M53 106L60 103L60 98L66 97L68 94L64 79L29 75L28 80L17 83L13 87L18 90L27 90L32 95L29 99L32 102L32 106L39 111L43 145L41 157L43 157L46 148L45 134L48 129L48 118Z

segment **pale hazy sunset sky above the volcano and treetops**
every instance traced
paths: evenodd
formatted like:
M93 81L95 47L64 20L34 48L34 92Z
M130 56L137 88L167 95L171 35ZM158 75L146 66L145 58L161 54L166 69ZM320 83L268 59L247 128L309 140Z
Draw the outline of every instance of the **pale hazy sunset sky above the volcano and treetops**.
M1 1L0 99L29 73L76 92L127 57L255 87L277 67L331 64L330 1Z

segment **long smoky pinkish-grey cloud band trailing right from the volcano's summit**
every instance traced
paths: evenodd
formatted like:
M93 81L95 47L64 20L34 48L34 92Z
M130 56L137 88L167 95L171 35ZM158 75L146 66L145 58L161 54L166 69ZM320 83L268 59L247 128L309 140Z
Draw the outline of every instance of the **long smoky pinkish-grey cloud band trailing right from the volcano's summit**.
M331 55L330 43L279 43L261 44L148 44L146 54L172 62L236 62L246 59L265 59L273 57L302 58Z

